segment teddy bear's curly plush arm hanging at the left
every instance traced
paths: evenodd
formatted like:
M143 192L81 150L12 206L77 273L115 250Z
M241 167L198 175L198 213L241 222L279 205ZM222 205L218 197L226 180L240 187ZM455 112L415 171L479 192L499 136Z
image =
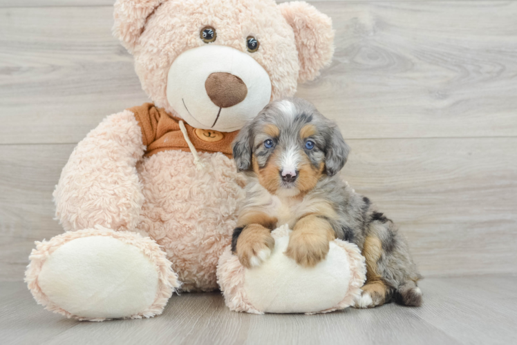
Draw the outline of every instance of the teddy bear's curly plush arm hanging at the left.
M135 165L144 148L129 110L106 117L79 142L53 193L64 230L135 230L144 201Z

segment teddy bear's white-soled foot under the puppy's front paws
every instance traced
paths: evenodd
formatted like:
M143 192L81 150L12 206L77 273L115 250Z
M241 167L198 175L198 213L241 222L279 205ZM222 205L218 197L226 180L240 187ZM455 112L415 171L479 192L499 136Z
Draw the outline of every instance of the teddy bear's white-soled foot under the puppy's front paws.
M285 255L291 230L272 232L274 249L254 268L245 268L227 247L218 264L218 282L232 311L247 313L328 313L344 309L359 297L366 264L355 244L335 239L326 259L313 268Z

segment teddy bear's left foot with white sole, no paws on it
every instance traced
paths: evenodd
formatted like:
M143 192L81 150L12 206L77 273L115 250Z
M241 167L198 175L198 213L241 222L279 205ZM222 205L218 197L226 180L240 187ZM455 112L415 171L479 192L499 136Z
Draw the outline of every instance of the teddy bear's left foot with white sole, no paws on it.
M159 315L180 287L156 242L101 226L37 242L26 282L48 310L92 321Z

